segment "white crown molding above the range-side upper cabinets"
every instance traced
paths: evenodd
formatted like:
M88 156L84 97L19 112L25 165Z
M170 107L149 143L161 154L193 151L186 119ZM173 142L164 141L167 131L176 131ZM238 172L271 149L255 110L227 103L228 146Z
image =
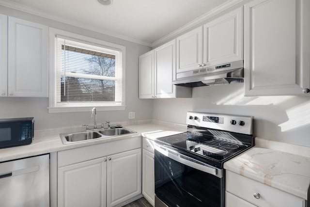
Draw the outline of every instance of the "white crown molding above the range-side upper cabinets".
M244 0L229 0L229 1L219 5L218 7L214 8L210 12L205 13L204 15L194 19L193 21L191 21L189 23L187 23L183 27L180 27L179 29L167 34L166 36L164 36L158 40L156 40L155 42L152 43L152 48L155 48L155 47L159 46L160 44L167 42L169 39L181 34L182 32L185 32L186 30L202 23L203 21L207 20L208 18L215 16L218 13L224 11L225 9L233 7L234 5L236 5L242 1L244 1Z

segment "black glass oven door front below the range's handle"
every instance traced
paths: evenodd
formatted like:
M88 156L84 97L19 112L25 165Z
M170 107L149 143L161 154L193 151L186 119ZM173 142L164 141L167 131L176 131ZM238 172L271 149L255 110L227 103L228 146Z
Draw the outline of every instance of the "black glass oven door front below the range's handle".
M171 207L221 207L223 178L168 158L155 150L155 194Z

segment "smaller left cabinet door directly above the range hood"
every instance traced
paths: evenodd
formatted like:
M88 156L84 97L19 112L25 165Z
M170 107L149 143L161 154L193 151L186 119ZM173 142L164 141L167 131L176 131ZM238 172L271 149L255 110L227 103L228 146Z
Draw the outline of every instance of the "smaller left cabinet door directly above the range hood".
M176 38L176 72L202 68L202 27Z

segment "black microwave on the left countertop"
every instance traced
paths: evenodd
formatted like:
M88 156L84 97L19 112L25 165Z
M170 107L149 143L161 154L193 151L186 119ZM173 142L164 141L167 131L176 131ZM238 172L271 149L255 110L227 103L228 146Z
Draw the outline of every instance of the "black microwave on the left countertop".
M0 119L0 148L30 144L33 135L33 117Z

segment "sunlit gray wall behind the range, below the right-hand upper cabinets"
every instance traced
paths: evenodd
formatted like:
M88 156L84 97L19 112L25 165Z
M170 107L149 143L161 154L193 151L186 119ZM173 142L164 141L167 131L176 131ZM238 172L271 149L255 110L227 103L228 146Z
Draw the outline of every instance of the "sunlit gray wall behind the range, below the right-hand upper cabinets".
M310 96L244 96L244 84L193 88L192 98L154 100L153 118L186 123L187 111L254 116L254 136L310 146Z

